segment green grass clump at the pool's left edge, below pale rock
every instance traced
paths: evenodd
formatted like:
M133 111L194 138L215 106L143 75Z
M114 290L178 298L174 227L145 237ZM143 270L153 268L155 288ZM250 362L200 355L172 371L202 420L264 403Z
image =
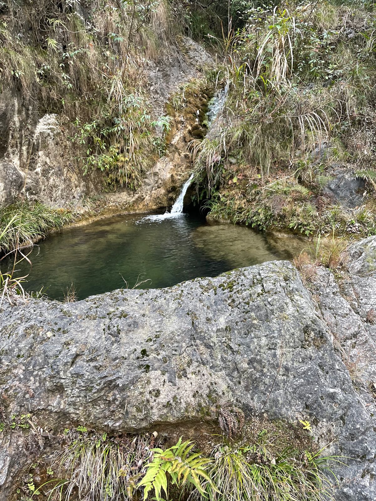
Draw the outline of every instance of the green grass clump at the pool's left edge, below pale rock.
M60 228L73 219L64 209L51 209L42 203L18 203L0 208L0 254L32 245L45 238L53 228Z

